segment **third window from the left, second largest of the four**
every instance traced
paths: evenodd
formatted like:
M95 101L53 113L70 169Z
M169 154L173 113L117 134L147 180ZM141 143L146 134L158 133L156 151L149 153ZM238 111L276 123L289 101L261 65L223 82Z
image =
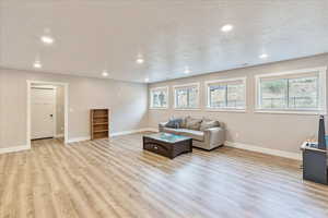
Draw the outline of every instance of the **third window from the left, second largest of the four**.
M245 110L246 77L209 81L207 108Z

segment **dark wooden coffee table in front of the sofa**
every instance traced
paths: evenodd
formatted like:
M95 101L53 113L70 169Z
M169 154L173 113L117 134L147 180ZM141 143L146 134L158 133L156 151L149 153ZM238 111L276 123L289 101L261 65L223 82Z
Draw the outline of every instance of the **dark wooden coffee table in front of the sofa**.
M192 138L169 133L143 136L143 149L171 159L184 153L192 153Z

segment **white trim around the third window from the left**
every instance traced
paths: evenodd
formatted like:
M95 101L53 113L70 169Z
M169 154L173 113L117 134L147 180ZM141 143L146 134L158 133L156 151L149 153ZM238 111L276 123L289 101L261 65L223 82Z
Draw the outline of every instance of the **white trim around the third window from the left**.
M224 82L234 82L234 81L243 81L243 83L244 83L244 101L245 101L244 108L231 108L231 107L213 108L213 107L210 107L209 84L212 84L212 83L224 83ZM246 112L246 110L247 110L247 76L243 76L243 77L229 77L229 78L222 78L222 80L206 81L204 82L204 89L206 89L204 93L206 93L206 110L207 111Z

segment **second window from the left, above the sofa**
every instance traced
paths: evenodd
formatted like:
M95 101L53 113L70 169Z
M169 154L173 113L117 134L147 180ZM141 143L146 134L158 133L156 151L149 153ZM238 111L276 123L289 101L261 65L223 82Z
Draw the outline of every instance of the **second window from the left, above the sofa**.
M174 86L176 109L198 109L199 108L199 84L188 84Z

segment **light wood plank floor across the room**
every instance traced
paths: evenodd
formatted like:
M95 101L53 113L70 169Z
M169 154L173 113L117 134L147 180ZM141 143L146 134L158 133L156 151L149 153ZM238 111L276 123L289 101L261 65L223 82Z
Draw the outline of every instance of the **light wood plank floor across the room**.
M328 217L328 186L300 162L223 147L173 160L141 134L0 155L0 217Z

